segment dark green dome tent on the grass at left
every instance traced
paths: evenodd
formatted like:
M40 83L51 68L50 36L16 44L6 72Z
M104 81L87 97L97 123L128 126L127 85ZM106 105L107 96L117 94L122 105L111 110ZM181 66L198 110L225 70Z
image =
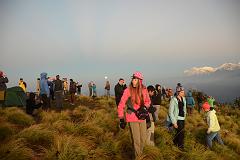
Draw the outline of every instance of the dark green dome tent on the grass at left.
M12 87L6 90L5 106L26 106L26 93L21 87Z

